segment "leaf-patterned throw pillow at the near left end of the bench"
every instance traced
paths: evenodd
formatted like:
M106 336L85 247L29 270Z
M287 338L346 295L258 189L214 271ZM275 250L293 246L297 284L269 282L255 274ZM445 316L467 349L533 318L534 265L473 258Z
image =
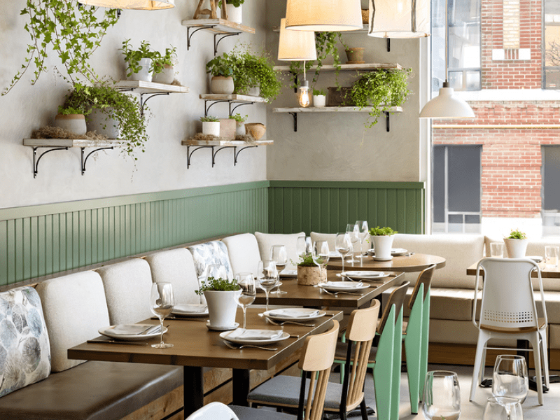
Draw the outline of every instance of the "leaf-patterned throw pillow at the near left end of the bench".
M0 293L0 397L50 373L41 299L32 287Z

